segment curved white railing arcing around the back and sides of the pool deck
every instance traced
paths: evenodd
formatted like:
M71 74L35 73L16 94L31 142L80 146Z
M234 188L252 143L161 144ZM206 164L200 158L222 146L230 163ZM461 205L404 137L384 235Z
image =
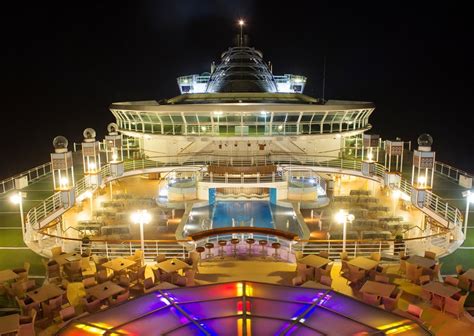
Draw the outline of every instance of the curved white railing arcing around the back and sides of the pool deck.
M174 162L171 161L173 159ZM291 171L291 167L294 165L295 169L298 169L298 166L312 166L312 167L327 167L327 168L336 168L340 173L350 173L354 171L360 173L361 170L361 161L358 160L347 160L347 159L338 159L338 158L329 158L329 157L320 157L320 156L303 156L299 155L297 158L291 156L284 156L282 154L272 155L270 157L262 156L252 159L253 162L256 160L263 160L262 162L272 162L274 164L286 165L286 169ZM173 167L172 169L184 169L184 166L191 165L204 165L204 164L230 164L230 162L236 162L241 164L243 158L231 158L223 156L210 156L210 155L201 155L195 156L192 158L183 158L183 157L167 157L167 161L154 161L154 160L133 160L126 161L124 163L124 169L126 172L144 170L147 168L158 168L158 167ZM176 168L183 167L183 168ZM340 169L340 171L339 171ZM380 164L375 164L375 177L378 181L383 181L385 169ZM104 165L101 169L101 176L105 179L110 174L110 166L108 164ZM408 181L402 180L400 183L400 190L406 193L408 196L411 196L412 187ZM76 197L90 189L91 187L87 184L85 179L80 179L76 182L75 194ZM427 198L425 202L425 207L430 211L436 213L439 218L446 221L446 228L450 230L455 230L460 228L462 224L462 214L459 209L449 205L447 202L442 200L437 195L427 192ZM46 225L47 223L42 223L45 219L52 220L50 218L56 211L62 208L62 203L60 199L60 194L55 193L46 200L44 200L40 205L32 208L27 216L27 230L33 229L38 231L41 229L41 224ZM65 211L66 209L64 209ZM423 211L423 209L422 209ZM438 218L438 219L439 219ZM31 235L27 235L31 237ZM360 248L360 246L359 246ZM354 249L357 249L354 247Z

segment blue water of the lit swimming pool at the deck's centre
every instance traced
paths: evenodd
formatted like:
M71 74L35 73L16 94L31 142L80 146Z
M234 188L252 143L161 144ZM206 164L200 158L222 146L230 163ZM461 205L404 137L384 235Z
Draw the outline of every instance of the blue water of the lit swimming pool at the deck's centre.
M274 228L270 204L267 201L218 201L212 215L213 228L253 226ZM243 223L242 223L243 222Z

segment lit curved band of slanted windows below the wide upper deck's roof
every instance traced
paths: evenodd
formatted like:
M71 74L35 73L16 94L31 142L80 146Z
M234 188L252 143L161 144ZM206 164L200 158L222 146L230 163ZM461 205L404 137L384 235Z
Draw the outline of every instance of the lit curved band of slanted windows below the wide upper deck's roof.
M369 116L373 107L370 104L342 104L332 108L309 105L309 109L289 105L284 106L283 111L281 106L277 109L275 105L249 105L229 111L228 106L216 104L209 106L209 111L195 112L187 111L182 105L154 110L149 106L113 104L111 111L122 132L149 135L304 136L361 132L371 128Z

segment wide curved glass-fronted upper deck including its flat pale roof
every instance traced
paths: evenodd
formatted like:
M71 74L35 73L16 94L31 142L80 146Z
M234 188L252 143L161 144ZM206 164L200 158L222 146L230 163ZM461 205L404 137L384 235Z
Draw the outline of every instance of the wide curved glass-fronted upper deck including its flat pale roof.
M166 136L316 136L359 134L371 128L370 102L329 100L302 94L206 93L166 103L122 102L110 106L124 133Z

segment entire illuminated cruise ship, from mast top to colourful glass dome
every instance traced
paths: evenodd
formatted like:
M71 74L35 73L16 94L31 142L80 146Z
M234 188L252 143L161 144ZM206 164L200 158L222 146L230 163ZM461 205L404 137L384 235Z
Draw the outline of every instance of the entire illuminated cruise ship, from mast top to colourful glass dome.
M431 136L369 134L242 33L177 83L0 181L0 334L474 334L473 177Z

